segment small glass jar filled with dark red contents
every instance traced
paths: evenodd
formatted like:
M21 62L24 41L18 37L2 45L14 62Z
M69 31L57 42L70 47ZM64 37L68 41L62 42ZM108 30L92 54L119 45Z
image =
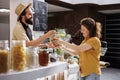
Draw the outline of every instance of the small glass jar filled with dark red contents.
M47 50L39 51L39 65L47 66L49 63L49 52Z

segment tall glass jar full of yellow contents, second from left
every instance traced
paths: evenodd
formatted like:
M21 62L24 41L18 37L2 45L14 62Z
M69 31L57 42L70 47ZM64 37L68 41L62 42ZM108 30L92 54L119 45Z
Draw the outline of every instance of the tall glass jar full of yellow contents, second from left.
M26 67L26 43L25 40L12 41L12 69L22 71Z

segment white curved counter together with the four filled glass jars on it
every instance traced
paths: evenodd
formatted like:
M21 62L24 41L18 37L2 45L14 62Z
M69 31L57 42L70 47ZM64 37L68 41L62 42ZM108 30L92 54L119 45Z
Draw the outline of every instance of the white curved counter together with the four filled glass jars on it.
M10 52L8 40L0 40L0 80L35 80L64 70L67 63L50 62L47 50L25 48L24 40L13 40Z

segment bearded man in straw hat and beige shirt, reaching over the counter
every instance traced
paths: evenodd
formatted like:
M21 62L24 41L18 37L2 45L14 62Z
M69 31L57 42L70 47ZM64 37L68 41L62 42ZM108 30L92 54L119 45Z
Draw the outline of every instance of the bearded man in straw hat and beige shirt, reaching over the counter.
M27 6L24 6L20 3L16 9L15 13L17 17L17 23L13 30L13 40L26 40L26 46L46 46L40 44L46 38L55 34L54 30L48 31L46 34L41 36L40 38L34 40L33 39L33 31L31 25L33 25L33 12L30 8L32 4L29 3Z

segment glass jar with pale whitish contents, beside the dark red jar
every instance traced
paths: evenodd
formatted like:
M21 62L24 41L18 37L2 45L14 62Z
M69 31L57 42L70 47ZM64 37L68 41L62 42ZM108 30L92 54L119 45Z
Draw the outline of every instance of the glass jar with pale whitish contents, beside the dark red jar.
M27 57L28 68L38 67L39 60L38 60L38 48L37 47L28 47L26 57Z

